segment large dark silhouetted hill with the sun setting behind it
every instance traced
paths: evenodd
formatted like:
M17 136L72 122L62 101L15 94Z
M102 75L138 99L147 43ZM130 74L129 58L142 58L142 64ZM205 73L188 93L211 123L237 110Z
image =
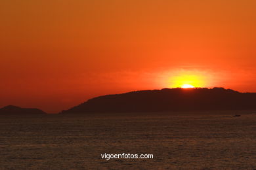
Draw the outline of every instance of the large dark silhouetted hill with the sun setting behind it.
M173 88L95 97L62 113L250 109L256 109L256 93L224 88Z

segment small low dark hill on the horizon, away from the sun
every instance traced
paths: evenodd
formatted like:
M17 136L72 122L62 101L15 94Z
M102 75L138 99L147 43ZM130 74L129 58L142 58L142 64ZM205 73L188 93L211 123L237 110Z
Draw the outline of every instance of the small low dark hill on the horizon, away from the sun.
M1 108L0 114L46 114L46 112L39 109L28 109L9 105Z

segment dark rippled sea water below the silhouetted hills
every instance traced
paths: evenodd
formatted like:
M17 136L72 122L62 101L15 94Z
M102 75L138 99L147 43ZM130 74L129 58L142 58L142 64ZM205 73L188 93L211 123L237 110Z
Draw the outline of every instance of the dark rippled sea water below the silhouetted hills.
M256 169L251 113L1 115L0 169ZM154 158L106 160L105 153Z

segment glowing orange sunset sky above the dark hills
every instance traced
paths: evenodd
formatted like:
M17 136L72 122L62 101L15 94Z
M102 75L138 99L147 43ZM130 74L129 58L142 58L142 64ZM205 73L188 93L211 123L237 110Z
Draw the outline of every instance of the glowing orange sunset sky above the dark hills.
M254 0L0 1L0 107L134 90L256 92Z

